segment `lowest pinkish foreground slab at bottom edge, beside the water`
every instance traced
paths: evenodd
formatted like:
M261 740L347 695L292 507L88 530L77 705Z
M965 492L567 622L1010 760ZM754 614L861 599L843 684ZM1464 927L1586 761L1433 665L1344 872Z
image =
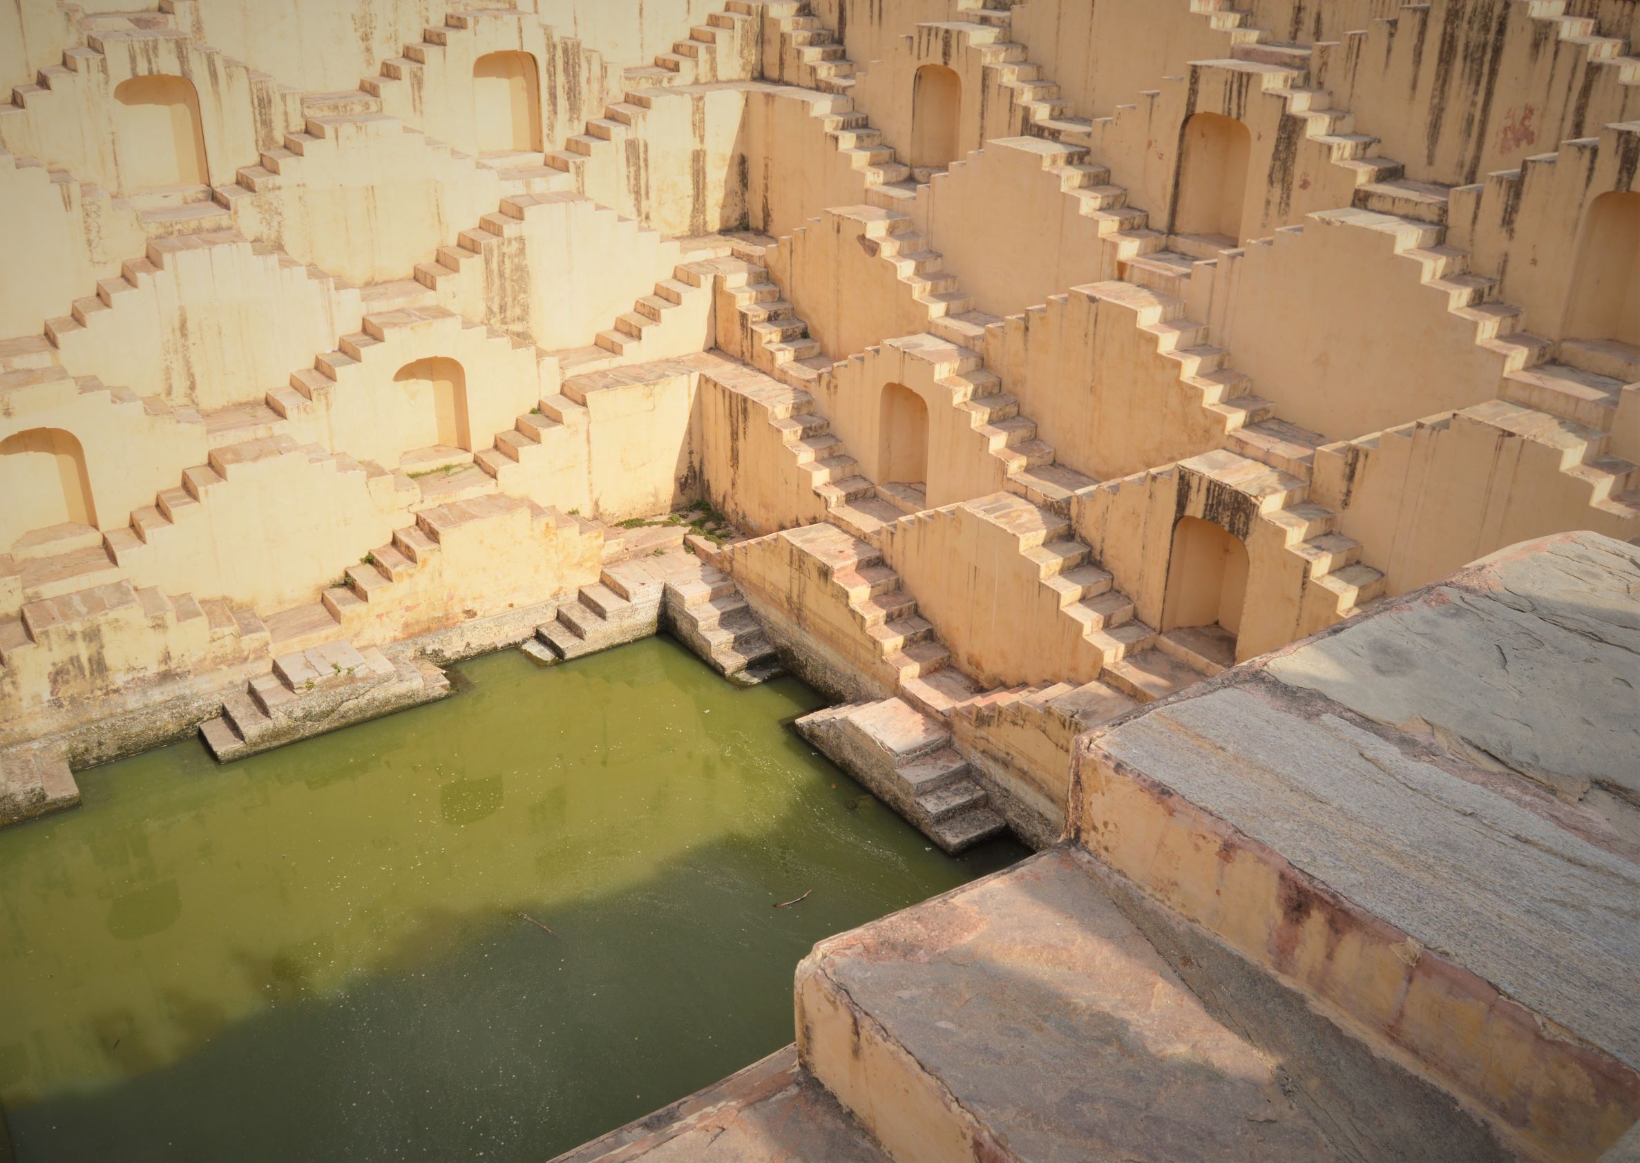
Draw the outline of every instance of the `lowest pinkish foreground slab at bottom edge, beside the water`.
M786 1047L553 1163L891 1163Z

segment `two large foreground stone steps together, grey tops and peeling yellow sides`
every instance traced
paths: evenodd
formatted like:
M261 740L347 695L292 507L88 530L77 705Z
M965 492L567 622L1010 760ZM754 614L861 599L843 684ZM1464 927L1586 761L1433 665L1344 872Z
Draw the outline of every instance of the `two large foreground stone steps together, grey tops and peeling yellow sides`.
M1620 668L1622 650L1588 661L1620 618L1551 628L1566 569L1602 595L1632 589L1619 548L1560 541L1560 561L1448 581L1469 618L1533 618L1545 666ZM1601 1109L1604 1086L1630 1084L1606 1063L1633 1042L1614 1017L1633 961L1612 955L1632 943L1633 863L1527 805L1540 792L1509 759L1489 751L1481 776L1474 733L1496 730L1499 696L1525 750L1576 764L1581 737L1545 738L1579 696L1545 709L1519 659L1479 663L1489 636L1435 628L1456 625L1450 600L1389 607L1084 737L1071 843L815 946L797 971L800 1063L892 1158L1624 1158L1627 1109L1596 1129L1538 1120L1525 1096ZM1384 696L1407 676L1373 682L1342 659L1428 633L1455 650L1414 679L1427 720L1405 728L1405 699ZM1350 937L1305 945L1319 932ZM1389 996L1443 1004L1383 1006L1366 963ZM1576 991L1568 963L1588 966ZM1520 1020L1455 1055L1450 1014L1496 1012L1506 989ZM1545 1084L1502 1060L1565 1065Z

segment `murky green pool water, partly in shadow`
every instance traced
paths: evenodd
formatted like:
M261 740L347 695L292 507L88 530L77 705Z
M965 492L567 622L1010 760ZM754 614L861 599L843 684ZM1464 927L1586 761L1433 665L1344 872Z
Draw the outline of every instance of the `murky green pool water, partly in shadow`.
M18 1163L543 1163L790 1042L818 938L1025 855L941 855L786 727L818 696L667 638L454 671L0 832Z

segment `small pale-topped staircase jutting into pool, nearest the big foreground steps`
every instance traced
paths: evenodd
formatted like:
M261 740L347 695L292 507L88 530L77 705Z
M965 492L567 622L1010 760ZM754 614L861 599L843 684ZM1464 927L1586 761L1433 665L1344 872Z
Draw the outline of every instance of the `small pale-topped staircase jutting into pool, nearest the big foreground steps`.
M827 707L794 727L946 853L1007 828L951 732L902 699Z

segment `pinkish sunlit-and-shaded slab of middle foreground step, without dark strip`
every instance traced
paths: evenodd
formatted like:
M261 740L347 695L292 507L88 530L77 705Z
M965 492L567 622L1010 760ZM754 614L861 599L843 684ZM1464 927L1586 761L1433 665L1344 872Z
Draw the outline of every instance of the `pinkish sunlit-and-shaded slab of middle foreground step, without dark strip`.
M886 1147L918 1142L918 1158L1337 1158L1091 861L1056 848L822 942L799 968L805 1063ZM920 1138L940 1133L954 1138Z

